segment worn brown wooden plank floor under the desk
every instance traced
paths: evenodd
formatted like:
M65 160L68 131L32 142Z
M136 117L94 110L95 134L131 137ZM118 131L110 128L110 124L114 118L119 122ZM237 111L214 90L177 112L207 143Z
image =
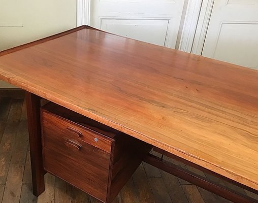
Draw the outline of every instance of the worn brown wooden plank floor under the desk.
M0 92L1 93L1 92ZM152 152L154 153L154 152ZM254 195L220 179L165 157L199 175L239 192ZM38 199L32 194L26 107L23 94L0 94L0 203L99 202L66 182L45 175L46 189ZM220 203L230 202L173 175L142 163L113 202Z

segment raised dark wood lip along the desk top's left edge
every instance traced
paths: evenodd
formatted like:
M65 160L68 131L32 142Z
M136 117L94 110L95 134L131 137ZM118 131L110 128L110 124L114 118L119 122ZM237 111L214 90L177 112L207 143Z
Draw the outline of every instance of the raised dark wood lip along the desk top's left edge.
M19 51L21 49L25 49L27 47L31 47L31 46L34 46L34 45L37 45L37 44L40 44L40 43L43 43L43 42L47 42L47 41L50 41L50 40L53 40L53 39L56 39L56 38L59 38L59 37L65 36L65 35L68 35L70 33L76 32L78 30L84 29L86 27L87 27L87 25L82 25L82 26L79 26L79 27L76 27L76 28L73 28L73 29L69 29L67 31L57 33L56 35L52 35L52 36L49 36L49 37L46 37L46 38L43 38L43 39L40 39L40 40L36 40L34 42L29 42L29 43L26 43L26 44L23 44L23 45L20 45L20 46L17 46L17 47L13 47L13 48L10 48L10 49L4 50L4 51L0 51L0 56L9 54L9 53L12 53L12 52L15 52L15 51Z

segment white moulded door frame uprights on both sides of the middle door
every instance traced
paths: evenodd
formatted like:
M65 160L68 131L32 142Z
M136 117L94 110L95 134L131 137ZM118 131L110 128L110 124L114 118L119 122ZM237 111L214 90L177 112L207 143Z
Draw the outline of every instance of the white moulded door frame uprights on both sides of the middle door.
M187 0L185 0L187 1ZM77 0L77 26L89 25L91 0ZM188 0L179 50L202 54L214 0Z

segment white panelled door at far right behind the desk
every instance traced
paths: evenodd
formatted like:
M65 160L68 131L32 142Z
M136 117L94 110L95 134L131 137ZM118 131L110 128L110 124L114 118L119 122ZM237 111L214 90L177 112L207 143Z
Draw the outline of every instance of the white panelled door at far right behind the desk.
M202 55L258 69L258 0L215 0Z

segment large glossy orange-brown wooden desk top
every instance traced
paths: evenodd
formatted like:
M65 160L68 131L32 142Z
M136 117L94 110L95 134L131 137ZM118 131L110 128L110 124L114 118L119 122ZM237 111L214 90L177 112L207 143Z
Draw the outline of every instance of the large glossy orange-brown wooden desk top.
M0 79L258 190L258 71L81 26Z

